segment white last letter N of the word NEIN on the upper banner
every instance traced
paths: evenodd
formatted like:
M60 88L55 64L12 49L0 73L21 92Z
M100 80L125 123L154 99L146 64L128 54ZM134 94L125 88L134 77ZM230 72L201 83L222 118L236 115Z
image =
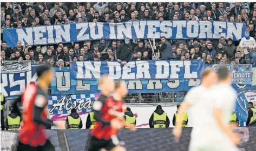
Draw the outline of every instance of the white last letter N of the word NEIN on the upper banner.
M62 29L63 27L63 29ZM62 38L65 40L64 42L70 42L70 25L64 24L64 25L54 25L55 29L55 43L63 42Z

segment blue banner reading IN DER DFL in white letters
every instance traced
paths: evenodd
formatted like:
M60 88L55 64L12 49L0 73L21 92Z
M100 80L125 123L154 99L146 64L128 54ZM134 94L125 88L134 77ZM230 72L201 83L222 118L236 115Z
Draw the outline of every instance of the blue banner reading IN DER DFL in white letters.
M117 61L73 61L70 78L95 80L109 74L118 80L198 79L204 66L204 60L129 61L126 65Z

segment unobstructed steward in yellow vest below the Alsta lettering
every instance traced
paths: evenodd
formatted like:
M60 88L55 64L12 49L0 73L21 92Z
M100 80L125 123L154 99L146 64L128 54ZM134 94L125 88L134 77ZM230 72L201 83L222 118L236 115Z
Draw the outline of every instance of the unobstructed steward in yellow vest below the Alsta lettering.
M83 127L82 120L80 116L77 114L76 109L71 109L71 114L67 116L65 121L66 129L81 129Z

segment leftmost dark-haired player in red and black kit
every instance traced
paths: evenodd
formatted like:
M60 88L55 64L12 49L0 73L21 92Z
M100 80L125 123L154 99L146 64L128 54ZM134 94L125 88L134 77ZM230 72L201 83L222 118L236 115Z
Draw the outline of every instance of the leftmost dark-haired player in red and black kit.
M55 147L47 139L43 132L45 127L49 127L53 122L47 119L47 87L51 83L53 71L50 65L41 65L36 68L38 82L30 83L21 97L19 97L12 107L21 115L18 109L18 102L22 102L23 126L19 131L19 142L17 151L45 150L54 151ZM64 128L63 123L56 123L57 127Z

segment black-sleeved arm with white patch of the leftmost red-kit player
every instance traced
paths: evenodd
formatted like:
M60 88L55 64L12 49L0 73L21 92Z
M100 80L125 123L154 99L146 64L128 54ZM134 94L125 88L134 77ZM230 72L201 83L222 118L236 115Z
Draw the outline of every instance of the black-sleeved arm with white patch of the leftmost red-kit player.
M50 127L52 124L51 120L47 118L42 119L41 117L42 112L44 112L45 105L47 105L47 99L45 98L45 96L37 94L35 98L35 106L33 111L33 121L42 124L45 127Z

